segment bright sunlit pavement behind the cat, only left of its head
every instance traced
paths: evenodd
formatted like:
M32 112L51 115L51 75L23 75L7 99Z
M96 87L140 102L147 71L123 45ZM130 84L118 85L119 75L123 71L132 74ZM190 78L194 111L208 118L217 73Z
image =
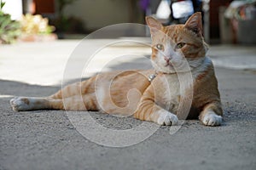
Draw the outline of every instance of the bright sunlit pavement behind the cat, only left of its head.
M73 77L79 78L83 71L76 72L77 65L84 63L86 75L102 71L106 64L117 64L116 59L124 55L125 61L150 54L145 44L133 47L121 45L123 40L63 40L55 42L17 43L0 46L0 77L4 80L27 82L30 84L60 84L67 64L73 65ZM115 43L113 43L115 42ZM123 62L125 62L123 61Z

